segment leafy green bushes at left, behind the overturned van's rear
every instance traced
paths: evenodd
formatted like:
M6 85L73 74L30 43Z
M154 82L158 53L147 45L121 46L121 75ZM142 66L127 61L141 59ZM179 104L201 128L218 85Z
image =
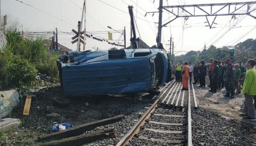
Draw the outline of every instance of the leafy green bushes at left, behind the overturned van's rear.
M16 29L7 31L7 45L0 53L0 90L32 87L39 73L57 79L58 55L50 55L41 39L23 39Z

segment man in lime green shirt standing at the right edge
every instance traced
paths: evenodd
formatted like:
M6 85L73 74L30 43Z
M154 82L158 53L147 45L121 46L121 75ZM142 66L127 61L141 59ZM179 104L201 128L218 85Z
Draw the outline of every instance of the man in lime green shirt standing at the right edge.
M256 65L256 61L249 59L247 61L247 73L245 75L242 93L245 96L244 99L244 111L240 114L246 120L256 121L255 108L253 105L253 97L256 95L256 70L253 68Z

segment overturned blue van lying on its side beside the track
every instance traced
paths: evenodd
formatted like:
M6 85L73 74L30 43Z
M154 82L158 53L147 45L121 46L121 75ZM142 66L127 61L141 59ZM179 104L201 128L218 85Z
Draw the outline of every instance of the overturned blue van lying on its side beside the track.
M168 58L160 49L74 53L57 60L66 96L147 92L165 84Z

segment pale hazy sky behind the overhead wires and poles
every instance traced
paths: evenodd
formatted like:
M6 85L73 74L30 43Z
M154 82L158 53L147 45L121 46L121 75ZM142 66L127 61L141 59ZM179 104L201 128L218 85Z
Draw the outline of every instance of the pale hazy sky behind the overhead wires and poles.
M153 3L153 1L155 2ZM207 0L207 2L206 0L163 0L163 6L245 1L255 0ZM10 22L18 22L20 29L21 25L23 25L25 32L54 31L55 28L58 28L58 31L71 32L72 29L77 30L77 22L81 21L81 8L84 0L22 0L22 2L1 0L1 15L6 14ZM24 3L29 4L29 6ZM87 31L111 31L107 26L111 26L116 30L122 30L126 27L127 46L130 45L131 21L128 5L133 5L134 16L139 30L137 31L137 37L140 37L149 46L156 45L158 14L155 13L153 17L152 14L147 14L145 17L145 13L157 11L159 0L87 0L86 5ZM253 7L256 8L256 4ZM253 15L256 16L256 13L253 13ZM173 18L172 14L163 11L163 22L168 22L171 18ZM213 18L209 17L209 20L211 21ZM167 44L169 44L168 40L171 35L176 55L185 53L185 51L201 51L204 48L204 44L207 47L210 45L222 47L236 45L236 43L249 38L256 39L256 19L247 15L236 16L236 19L231 18L232 16L216 17L215 23L217 24L213 24L213 27L216 28L212 29L205 27L207 25L205 17L189 17L188 20L177 18L163 28L163 46L166 49L169 48ZM236 22L239 23L230 29L230 26ZM44 35L46 38L51 36L50 34ZM58 35L58 42L75 51L76 44L72 45L72 36L62 33ZM98 34L98 36L108 38L107 34ZM121 37L118 33L113 34L113 39L119 38L123 38L123 36ZM108 50L113 47L107 42L99 42L91 38L87 38L86 42L86 50L94 50L93 48L97 47L101 50ZM122 41L119 41L119 43L123 44Z

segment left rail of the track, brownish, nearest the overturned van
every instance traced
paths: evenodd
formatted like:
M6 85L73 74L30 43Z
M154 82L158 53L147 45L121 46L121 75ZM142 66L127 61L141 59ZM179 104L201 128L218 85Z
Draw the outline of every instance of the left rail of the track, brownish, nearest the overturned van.
M172 85L172 84L171 84ZM171 85L165 90L165 92L171 87ZM162 94L163 95L163 94ZM140 131L140 127L145 124L145 120L148 119L152 112L154 112L155 107L157 107L157 103L160 100L160 97L151 105L151 107L140 117L140 119L136 122L134 126L125 134L125 136L116 144L116 146L125 146L129 143L136 133Z

